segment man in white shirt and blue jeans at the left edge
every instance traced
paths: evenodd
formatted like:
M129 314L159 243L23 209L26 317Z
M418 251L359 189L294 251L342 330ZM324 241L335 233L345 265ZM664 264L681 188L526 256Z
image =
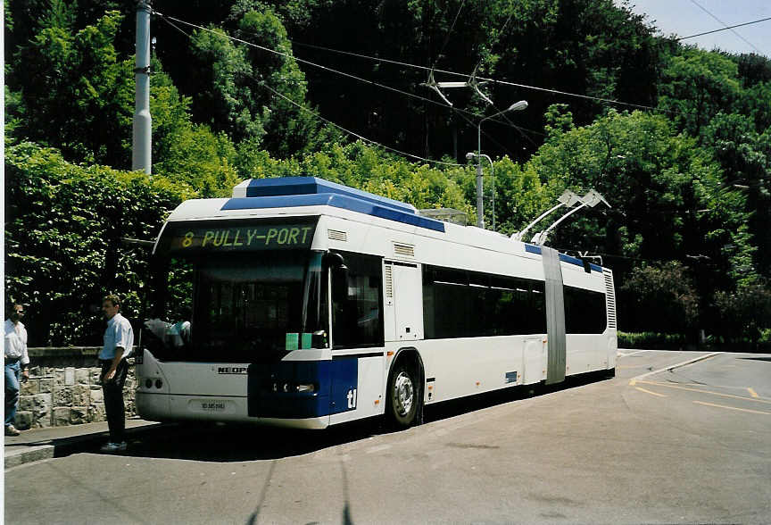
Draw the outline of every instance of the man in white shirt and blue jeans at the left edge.
M27 354L27 329L21 318L24 305L14 303L11 315L5 320L5 435L18 436L16 405L19 403L19 379L29 379L29 355Z

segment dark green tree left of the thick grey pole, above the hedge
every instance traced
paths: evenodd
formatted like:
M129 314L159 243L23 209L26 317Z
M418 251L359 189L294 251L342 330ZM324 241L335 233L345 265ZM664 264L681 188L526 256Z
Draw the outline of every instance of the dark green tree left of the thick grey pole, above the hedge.
M63 14L48 19L14 60L12 89L24 106L15 132L76 162L127 166L133 75L125 74L113 46L120 12L75 32Z

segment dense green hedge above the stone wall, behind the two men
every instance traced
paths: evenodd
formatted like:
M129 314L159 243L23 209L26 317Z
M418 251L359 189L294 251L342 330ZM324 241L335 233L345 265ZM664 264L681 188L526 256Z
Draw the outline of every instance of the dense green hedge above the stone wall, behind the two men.
M5 179L5 294L29 304L30 346L97 344L108 292L138 315L146 248L120 238L153 238L195 196L178 182L77 166L31 143L6 148Z

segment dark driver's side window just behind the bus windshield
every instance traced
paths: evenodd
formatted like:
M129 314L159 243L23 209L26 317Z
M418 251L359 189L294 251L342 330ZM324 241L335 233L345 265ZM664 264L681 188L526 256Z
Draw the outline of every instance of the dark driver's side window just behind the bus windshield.
M348 268L348 287L345 297L335 298L332 304L334 346L383 346L383 260L374 255L341 254ZM339 274L333 272L332 279L339 279Z

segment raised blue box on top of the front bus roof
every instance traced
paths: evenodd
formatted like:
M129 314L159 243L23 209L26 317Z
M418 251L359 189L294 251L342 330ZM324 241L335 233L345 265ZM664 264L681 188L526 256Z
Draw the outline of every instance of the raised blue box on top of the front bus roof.
M252 179L246 187L247 197L293 196L314 194L337 194L352 196L362 201L380 206L388 206L405 213L417 214L412 204L406 204L384 196L377 196L361 189L343 186L336 182L317 177L277 177L272 179Z

